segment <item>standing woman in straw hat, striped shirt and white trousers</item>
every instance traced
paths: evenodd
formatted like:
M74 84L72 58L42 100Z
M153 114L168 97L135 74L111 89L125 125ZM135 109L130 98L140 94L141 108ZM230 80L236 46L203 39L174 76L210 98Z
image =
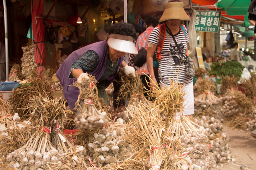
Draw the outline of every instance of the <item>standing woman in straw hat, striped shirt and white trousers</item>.
M190 20L183 8L183 2L166 3L165 11L159 21L162 24L154 28L149 37L147 67L149 75L154 81L150 86L155 87L157 82L153 70L153 56L156 52L159 59L160 86L170 86L170 79L178 80L178 83L185 84L183 90L187 91L187 94L185 95L183 114L192 118L194 114L193 79L192 76L186 75L185 64L183 63L184 56L188 56L187 43L189 38L186 27L181 25L182 20ZM163 36L160 38L160 35ZM162 49L161 44L163 44Z

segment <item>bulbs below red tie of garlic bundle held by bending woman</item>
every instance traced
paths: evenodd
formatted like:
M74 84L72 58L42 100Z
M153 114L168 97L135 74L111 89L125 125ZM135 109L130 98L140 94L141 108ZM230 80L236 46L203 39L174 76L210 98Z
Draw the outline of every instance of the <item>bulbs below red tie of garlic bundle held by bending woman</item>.
M107 113L97 110L92 99L85 99L83 110L75 118L76 125L80 128L97 129L108 122Z

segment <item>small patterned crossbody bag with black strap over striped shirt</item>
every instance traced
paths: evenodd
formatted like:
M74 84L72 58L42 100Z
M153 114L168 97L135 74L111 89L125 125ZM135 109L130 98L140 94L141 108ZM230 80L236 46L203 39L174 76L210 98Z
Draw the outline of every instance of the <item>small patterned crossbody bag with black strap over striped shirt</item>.
M167 27L166 27L167 28ZM173 36L171 30L169 30L168 28L166 29L168 31L168 33L173 37L173 41L175 42L176 46L177 46L177 49L179 50L180 52L180 55L182 56L182 58L184 58L184 64L185 64L185 73L187 76L195 76L195 70L194 70L194 63L191 59L190 56L185 56L183 55L183 52L180 50L180 46L178 45L178 43L176 42L175 40L175 37Z

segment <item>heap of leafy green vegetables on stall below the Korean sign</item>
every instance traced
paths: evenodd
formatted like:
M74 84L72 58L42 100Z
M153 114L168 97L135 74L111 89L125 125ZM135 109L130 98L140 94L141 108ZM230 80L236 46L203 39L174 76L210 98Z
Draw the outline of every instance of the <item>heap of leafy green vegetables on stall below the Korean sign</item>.
M235 75L236 77L241 77L244 66L237 61L228 61L223 63L213 62L211 65L211 75L219 76L230 76Z

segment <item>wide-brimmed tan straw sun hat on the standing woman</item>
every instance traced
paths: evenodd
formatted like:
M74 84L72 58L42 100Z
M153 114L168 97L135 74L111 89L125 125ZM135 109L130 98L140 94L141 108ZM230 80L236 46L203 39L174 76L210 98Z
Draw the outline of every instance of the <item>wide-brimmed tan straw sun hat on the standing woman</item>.
M165 10L159 22L169 19L190 20L183 8L183 2L168 2L165 4Z

